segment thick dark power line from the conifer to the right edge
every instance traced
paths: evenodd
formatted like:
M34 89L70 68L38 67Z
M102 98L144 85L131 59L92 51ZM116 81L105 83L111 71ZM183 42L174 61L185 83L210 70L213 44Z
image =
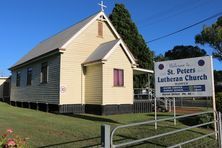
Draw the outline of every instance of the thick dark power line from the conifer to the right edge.
M182 28L182 29L180 29L180 30L177 30L177 31L175 31L175 32L172 32L172 33L169 33L169 34L160 36L160 37L158 37L158 38L152 39L152 40L150 40L150 41L147 41L146 43L151 43L151 42L154 42L154 41L157 41L157 40L160 40L160 39L169 37L169 36L171 36L171 35L177 34L177 33L179 33L179 32L182 32L182 31L184 31L184 30L187 30L187 29L189 29L189 28L192 28L192 27L194 27L194 26L196 26L196 25L199 25L199 24L201 24L201 23L203 23L203 22L205 22L205 21L208 21L208 20L210 20L210 19L212 19L212 18L215 18L215 17L217 17L217 16L219 16L219 15L221 15L221 14L222 14L222 12L219 12L219 13L214 14L214 15L208 17L208 18L205 18L205 19L203 19L203 20L201 20L201 21L199 21L199 22L197 22L197 23L194 23L194 24L192 24L192 25L190 25L190 26L187 26L187 27Z

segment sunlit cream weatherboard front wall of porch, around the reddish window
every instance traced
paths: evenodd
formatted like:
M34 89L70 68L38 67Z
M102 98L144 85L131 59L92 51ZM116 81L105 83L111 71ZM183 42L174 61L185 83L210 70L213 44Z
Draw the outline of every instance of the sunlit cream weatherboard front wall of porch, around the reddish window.
M124 70L124 86L114 86L114 69ZM103 105L133 104L133 70L121 46L103 64Z

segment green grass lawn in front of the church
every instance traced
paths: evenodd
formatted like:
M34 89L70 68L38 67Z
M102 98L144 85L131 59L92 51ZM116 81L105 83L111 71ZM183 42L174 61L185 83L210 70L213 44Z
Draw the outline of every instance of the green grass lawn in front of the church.
M159 118L167 116L172 116L172 114L159 113ZM102 124L109 124L114 128L117 125L153 119L153 113L68 116L17 108L0 103L0 135L7 128L12 128L19 136L28 138L28 144L31 147L99 147ZM120 129L116 133L115 143L172 131L181 127L186 127L186 125L178 122L174 126L172 121L167 121L158 124L158 130L154 130L154 125ZM132 147L166 147L209 132L212 132L212 130L198 128L146 141ZM201 147L216 147L215 140L212 137L196 141L185 147L200 147L200 145Z

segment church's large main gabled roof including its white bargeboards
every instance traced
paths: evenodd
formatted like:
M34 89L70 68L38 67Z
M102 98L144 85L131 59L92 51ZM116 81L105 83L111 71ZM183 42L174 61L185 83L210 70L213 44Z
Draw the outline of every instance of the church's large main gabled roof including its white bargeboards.
M40 42L35 48L33 48L28 54L26 54L23 58L21 58L17 63L15 63L10 69L13 69L29 61L32 61L35 58L39 58L42 55L45 55L47 53L53 52L54 50L59 50L59 52L63 52L63 49L65 49L70 42L72 42L82 31L84 31L96 19L100 19L101 16L104 17L105 21L108 23L111 30L115 34L115 36L120 39L119 34L113 27L109 18L105 15L104 12L101 11L82 20L81 22L75 24L74 26L71 26L70 28L62 32L59 32L56 35ZM123 43L123 46L125 46L124 43ZM130 52L129 52L129 55L131 55L131 59L134 61L135 59L133 58ZM133 63L135 63L135 61Z

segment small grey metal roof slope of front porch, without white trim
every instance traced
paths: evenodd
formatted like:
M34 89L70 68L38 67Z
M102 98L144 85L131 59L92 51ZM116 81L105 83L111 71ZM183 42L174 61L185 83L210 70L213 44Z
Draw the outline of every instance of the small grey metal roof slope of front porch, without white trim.
M111 49L119 42L120 39L100 44L95 51L84 61L83 64L102 60Z

